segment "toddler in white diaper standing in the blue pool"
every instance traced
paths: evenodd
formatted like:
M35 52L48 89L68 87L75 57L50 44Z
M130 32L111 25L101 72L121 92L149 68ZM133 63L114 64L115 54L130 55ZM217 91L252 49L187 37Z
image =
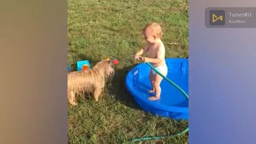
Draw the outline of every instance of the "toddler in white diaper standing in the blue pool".
M143 62L150 62L154 68L156 68L164 76L167 75L167 66L165 63L165 47L162 38L162 28L158 23L153 22L149 23L142 30L145 40L147 41L146 46L139 50L134 55L134 62L140 59L140 55L147 53L149 57L143 57L141 60ZM149 97L149 100L158 100L160 99L161 87L160 83L163 80L163 77L158 75L153 69L150 70L149 74L150 83L152 86L151 90L148 90L148 93L155 92L155 96Z

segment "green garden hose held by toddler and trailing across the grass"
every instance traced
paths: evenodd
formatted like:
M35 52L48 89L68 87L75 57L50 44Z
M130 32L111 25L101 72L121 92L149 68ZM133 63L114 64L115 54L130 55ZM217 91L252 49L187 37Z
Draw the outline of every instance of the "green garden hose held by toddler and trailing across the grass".
M172 82L169 78L165 77L163 74L161 74L157 69L155 69L149 62L146 62L147 65L153 69L154 71L156 71L157 74L159 74L160 76L162 76L167 82L171 83L173 86L175 86L187 99L188 99L188 95L185 91L183 91L177 84L175 84L174 82ZM170 137L176 137L179 136L183 133L186 133L188 131L188 126L183 129L182 131L175 133L173 135L168 135L168 136L155 136L155 137L142 137L142 138L135 138L132 139L131 141L129 141L128 143L132 143L135 141L143 141L143 140L159 140L159 139L165 139L165 138L170 138Z

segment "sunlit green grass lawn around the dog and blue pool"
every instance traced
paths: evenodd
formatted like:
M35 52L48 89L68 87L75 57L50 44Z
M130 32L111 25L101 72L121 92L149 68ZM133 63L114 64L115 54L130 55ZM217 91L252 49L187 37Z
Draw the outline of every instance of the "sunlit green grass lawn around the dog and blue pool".
M68 0L68 63L76 69L78 60L91 65L106 57L124 59L145 42L141 30L148 22L163 29L167 58L188 58L188 1ZM173 44L177 43L177 44ZM135 137L170 135L187 121L157 117L141 110L125 89L131 58L119 63L112 86L94 102L82 98L68 107L69 143L123 143ZM188 134L138 143L188 143Z

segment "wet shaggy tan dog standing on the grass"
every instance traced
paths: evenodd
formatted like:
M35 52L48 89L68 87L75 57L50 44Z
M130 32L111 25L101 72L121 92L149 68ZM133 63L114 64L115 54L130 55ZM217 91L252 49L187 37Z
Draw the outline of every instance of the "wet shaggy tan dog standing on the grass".
M86 71L73 71L68 74L68 102L77 106L76 95L92 93L95 101L105 87L106 78L114 73L115 69L110 60L98 62L92 69Z

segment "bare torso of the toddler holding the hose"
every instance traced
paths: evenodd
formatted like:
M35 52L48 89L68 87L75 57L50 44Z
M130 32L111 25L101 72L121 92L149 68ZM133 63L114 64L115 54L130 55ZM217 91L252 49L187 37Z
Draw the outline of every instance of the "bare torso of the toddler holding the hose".
M161 59L158 63L151 63L154 67L162 66L165 62L165 47L162 41L157 43L148 44L147 54L149 58L158 58Z

